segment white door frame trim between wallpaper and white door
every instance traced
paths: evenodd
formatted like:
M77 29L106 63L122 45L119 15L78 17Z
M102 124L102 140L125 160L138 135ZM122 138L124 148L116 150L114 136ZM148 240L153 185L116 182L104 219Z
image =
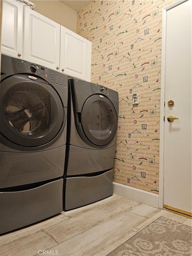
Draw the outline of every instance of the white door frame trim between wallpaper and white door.
M160 103L160 154L159 154L159 208L163 209L164 203L164 116L165 116L165 68L166 68L166 35L167 11L189 0L178 0L162 10L162 46L161 46L161 103Z

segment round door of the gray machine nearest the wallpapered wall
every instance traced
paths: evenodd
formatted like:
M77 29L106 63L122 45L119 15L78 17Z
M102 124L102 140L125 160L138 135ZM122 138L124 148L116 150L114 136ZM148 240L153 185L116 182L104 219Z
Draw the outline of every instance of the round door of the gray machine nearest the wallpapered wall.
M82 108L82 128L93 144L104 146L113 140L117 130L117 114L105 96L93 95Z

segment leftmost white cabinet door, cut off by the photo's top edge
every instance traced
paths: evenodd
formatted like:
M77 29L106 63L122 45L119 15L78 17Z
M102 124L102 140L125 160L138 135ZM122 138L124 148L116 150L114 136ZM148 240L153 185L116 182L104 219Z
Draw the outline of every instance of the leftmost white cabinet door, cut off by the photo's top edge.
M23 5L17 1L3 1L1 53L23 58Z

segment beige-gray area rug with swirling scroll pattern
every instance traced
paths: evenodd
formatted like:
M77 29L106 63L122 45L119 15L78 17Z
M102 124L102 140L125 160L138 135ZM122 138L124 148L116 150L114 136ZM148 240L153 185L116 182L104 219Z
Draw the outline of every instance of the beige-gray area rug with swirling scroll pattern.
M160 217L107 256L182 256L191 253L191 227Z

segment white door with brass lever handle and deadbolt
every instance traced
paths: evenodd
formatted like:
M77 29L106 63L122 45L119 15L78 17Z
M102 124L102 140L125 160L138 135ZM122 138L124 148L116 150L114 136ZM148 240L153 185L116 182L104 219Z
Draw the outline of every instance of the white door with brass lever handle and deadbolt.
M164 207L191 215L192 0L167 10L165 53ZM173 100L174 105L168 106ZM178 117L168 122L168 116Z

